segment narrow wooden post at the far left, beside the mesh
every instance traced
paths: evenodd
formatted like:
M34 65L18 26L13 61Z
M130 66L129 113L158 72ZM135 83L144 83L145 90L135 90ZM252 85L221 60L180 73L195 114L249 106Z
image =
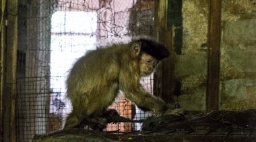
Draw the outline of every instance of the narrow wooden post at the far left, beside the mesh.
M15 98L18 48L18 0L5 1L7 10L6 46L3 70L3 141L16 141Z

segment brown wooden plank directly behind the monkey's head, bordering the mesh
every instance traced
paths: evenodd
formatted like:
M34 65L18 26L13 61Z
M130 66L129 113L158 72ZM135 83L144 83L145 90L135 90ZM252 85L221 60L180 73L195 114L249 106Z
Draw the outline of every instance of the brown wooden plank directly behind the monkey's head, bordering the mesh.
M172 48L172 27L167 25L168 0L155 1L154 31L158 42L161 42L171 50ZM168 58L158 66L158 72L154 76L154 88L156 96L160 96L165 102L171 102L172 70L171 59Z

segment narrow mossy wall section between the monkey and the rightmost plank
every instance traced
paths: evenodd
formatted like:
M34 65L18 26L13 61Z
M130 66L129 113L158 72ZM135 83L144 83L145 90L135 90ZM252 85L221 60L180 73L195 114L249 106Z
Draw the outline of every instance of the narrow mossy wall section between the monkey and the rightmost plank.
M181 95L174 96L187 111L205 111L208 1L183 0L183 47L175 75Z

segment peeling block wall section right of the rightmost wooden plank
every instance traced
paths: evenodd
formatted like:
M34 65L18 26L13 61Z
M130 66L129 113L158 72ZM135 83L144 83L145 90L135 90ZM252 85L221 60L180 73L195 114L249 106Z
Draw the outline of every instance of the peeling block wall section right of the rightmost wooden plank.
M222 1L220 109L256 109L256 1Z

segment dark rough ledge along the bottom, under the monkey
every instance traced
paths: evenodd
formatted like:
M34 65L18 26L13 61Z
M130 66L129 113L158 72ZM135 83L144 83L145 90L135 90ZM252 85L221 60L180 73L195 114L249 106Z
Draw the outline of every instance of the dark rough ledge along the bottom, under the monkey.
M216 129L241 129L250 131L249 135L208 135ZM47 141L256 141L256 110L213 111L191 117L150 117L143 122L139 133L114 134L75 128L55 131L46 135L36 135L34 142ZM188 133L171 133L173 131ZM190 132L205 130L203 135L191 135ZM207 133L209 132L209 133Z

